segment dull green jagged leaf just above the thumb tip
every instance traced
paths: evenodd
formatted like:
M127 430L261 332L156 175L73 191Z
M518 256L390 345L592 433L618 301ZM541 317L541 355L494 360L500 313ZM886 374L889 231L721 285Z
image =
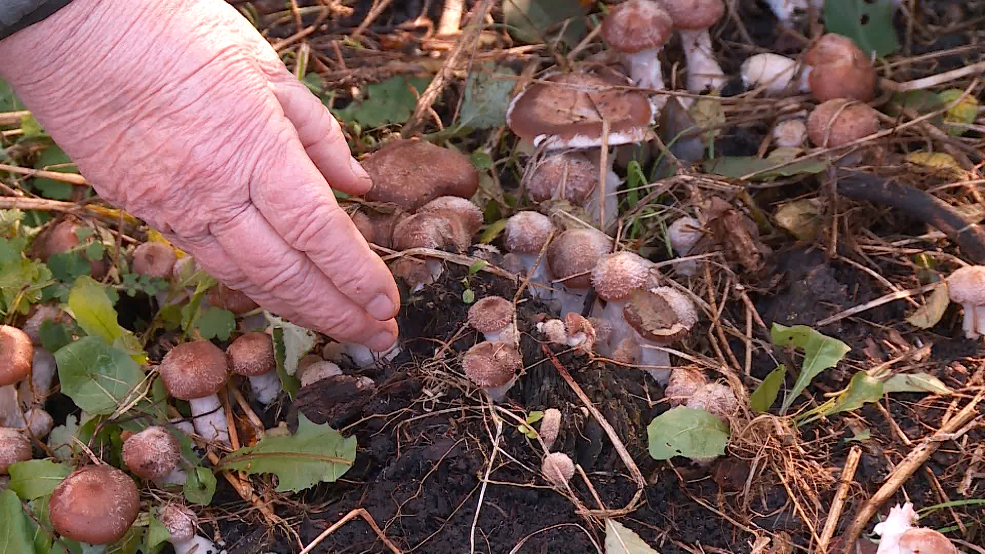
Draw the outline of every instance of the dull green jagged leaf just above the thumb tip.
M362 128L403 123L414 113L418 96L428 83L429 77L391 77L382 83L367 85L362 100L336 109L335 114L346 121L359 123Z

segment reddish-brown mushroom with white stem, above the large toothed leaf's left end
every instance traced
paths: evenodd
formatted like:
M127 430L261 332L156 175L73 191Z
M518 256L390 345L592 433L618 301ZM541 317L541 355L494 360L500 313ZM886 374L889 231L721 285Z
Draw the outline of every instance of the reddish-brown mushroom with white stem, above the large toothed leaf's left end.
M206 441L229 444L229 423L217 394L230 379L226 353L207 340L186 342L164 355L159 371L170 395L188 400L195 432Z

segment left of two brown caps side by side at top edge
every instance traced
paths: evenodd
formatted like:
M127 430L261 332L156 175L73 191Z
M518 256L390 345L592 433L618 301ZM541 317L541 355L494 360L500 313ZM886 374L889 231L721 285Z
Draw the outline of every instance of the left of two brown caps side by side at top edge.
M662 2L628 0L602 22L602 39L625 53L662 48L674 33L675 23Z

